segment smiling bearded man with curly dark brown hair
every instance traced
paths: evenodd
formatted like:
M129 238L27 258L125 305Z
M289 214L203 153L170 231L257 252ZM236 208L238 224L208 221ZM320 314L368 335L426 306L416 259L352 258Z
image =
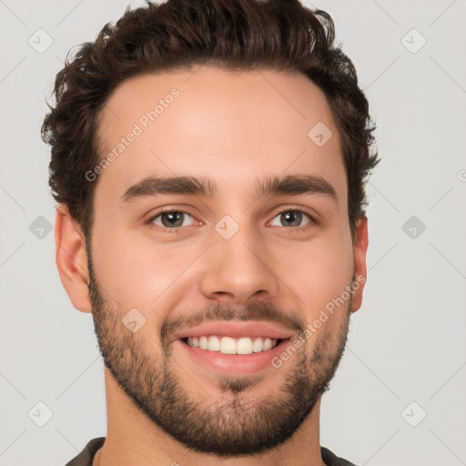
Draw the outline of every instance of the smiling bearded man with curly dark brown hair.
M360 309L379 159L328 14L127 10L56 77L56 263L92 313L107 434L68 465L349 465L322 394Z

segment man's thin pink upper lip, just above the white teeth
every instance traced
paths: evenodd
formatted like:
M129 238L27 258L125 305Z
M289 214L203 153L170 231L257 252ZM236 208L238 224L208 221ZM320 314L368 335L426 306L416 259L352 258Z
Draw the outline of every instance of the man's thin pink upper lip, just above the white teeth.
M289 333L260 321L216 321L207 322L192 329L177 332L174 339L187 337L202 337L203 335L218 335L219 337L265 337L270 339L288 339Z

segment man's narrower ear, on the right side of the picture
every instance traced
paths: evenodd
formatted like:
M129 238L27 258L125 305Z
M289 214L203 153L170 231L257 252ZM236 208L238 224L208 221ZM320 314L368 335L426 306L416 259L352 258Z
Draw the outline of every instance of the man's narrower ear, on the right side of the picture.
M362 305L362 292L367 280L366 253L369 245L368 218L362 216L356 223L353 242L354 282L351 312L356 312Z

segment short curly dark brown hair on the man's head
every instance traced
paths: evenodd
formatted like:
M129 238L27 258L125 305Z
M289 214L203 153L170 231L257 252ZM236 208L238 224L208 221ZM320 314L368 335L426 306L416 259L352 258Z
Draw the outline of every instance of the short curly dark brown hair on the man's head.
M132 76L213 65L229 70L299 71L327 96L348 180L351 235L367 206L365 185L380 159L369 104L351 60L335 43L328 13L299 0L167 0L107 23L95 42L66 57L56 75L42 137L51 146L49 186L90 238L93 191L86 172L99 161L98 117L112 91Z

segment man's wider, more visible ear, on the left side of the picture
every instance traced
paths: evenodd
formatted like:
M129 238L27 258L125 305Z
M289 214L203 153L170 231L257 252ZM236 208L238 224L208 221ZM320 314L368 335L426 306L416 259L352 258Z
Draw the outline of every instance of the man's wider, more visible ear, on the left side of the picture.
M92 312L87 283L86 239L74 218L63 204L56 208L56 266L73 306L82 312Z

